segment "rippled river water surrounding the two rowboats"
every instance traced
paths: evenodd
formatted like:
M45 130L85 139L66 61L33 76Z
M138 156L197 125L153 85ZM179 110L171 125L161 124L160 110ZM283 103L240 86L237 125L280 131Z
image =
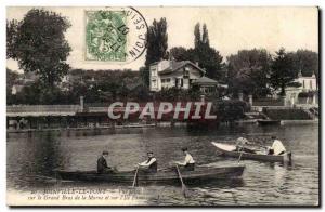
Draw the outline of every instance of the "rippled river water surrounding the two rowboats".
M187 146L197 164L237 164L237 159L218 156L211 142L234 143L238 136L268 141L281 138L292 151L292 164L243 160L242 178L190 185L188 198L180 185L141 185L140 204L147 206L315 206L318 203L318 125L221 127L212 131L186 128L129 129L110 132L42 132L9 134L6 143L8 190L44 188L105 188L112 193L121 185L57 182L54 169L95 170L103 149L108 163L118 170L132 170L155 153L159 168L181 160L181 147Z

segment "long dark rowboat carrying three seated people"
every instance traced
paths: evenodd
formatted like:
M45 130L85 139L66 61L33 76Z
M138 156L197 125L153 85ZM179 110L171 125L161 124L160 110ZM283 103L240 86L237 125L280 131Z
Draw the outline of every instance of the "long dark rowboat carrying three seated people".
M196 167L195 171L181 171L181 174L184 182L193 183L209 180L239 177L242 176L244 169L245 165L237 164L223 167ZM132 184L135 171L98 173L96 171L57 170L56 173L60 180ZM138 182L141 183L173 183L179 181L179 175L176 169L158 171L157 173L138 173Z

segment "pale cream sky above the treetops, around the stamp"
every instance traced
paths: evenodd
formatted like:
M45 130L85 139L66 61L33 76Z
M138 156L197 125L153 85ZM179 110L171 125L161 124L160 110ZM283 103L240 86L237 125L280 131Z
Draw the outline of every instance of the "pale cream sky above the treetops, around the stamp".
M6 19L21 21L31 8L8 6ZM83 69L134 69L144 65L145 54L129 64L84 61L84 11L105 8L44 8L66 16L72 27L66 39L73 51L67 63ZM263 48L272 54L281 47L287 51L308 49L318 52L318 11L308 6L270 8L136 8L148 25L154 18L166 17L168 47L194 45L194 26L206 24L210 45L224 57L238 50ZM6 61L6 67L18 70L17 63ZM20 70L22 71L22 70Z

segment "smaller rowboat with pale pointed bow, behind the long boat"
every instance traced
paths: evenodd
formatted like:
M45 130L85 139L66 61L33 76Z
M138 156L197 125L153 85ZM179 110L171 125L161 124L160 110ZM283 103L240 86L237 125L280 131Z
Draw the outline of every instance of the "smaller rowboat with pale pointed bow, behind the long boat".
M236 150L235 145L230 144L221 144L212 142L212 145L217 147L217 149L224 156L239 158L242 154L242 159L251 159L251 160L260 160L268 162L291 162L291 153L288 151L284 155L275 156L275 155L265 155L262 153L257 154L248 154Z

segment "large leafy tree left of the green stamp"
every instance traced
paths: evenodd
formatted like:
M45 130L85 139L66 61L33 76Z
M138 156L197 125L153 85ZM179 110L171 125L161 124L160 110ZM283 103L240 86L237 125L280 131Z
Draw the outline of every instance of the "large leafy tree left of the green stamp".
M64 37L69 22L54 12L32 9L17 26L10 23L9 56L24 71L35 71L46 88L53 88L69 69L66 58L72 49Z

